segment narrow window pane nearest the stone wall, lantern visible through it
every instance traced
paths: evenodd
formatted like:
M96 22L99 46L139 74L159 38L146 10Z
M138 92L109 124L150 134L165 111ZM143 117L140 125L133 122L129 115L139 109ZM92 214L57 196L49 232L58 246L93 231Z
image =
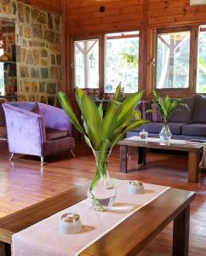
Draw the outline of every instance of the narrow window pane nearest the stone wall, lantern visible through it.
M75 86L99 88L99 40L74 42Z

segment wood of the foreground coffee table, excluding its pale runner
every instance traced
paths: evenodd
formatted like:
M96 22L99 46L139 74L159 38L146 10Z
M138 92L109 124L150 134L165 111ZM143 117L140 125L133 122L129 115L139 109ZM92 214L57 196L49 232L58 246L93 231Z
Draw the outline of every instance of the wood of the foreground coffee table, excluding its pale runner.
M12 235L15 232L82 201L88 188L89 184L69 189L0 219L0 255L11 255ZM173 220L174 255L188 255L190 203L194 198L194 192L167 190L84 250L81 255L135 255Z

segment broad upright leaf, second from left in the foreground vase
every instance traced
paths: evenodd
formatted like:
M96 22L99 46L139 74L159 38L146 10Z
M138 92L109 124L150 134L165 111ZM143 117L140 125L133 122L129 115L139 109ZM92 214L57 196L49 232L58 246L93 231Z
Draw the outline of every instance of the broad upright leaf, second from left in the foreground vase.
M96 150L100 144L102 135L102 121L100 119L100 113L94 101L86 94L83 94L81 105L83 119L87 124L89 135L91 136L90 139L94 143L94 149Z

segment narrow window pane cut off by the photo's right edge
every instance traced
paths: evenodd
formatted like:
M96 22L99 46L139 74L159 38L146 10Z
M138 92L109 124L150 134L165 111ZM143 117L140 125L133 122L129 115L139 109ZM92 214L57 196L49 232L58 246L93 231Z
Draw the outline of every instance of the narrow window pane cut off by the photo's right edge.
M206 26L199 27L196 90L206 93Z

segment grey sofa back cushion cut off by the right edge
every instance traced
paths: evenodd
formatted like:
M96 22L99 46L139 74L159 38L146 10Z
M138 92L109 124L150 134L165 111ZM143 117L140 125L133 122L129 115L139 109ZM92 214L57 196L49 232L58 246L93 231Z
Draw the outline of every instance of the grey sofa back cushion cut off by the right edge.
M206 124L206 96L197 94L195 97L194 109L192 113L192 123Z

